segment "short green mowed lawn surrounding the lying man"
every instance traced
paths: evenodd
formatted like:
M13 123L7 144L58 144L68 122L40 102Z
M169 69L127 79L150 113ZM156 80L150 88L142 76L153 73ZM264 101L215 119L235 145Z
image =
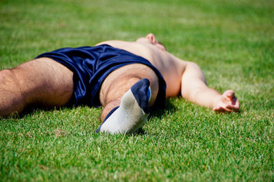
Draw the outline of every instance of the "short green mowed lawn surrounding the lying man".
M140 133L108 135L101 108L29 109L0 119L0 181L273 181L273 0L2 0L0 69L150 32L240 112L168 99Z

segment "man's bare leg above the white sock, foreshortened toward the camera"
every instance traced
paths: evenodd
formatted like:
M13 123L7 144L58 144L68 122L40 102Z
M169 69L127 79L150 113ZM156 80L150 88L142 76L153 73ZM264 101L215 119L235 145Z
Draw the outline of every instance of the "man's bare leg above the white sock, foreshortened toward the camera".
M153 70L143 64L130 64L123 66L110 73L103 81L100 91L100 101L103 105L101 120L121 104L121 98L137 81L147 78L151 87L151 99L149 105L152 106L158 94L158 77Z

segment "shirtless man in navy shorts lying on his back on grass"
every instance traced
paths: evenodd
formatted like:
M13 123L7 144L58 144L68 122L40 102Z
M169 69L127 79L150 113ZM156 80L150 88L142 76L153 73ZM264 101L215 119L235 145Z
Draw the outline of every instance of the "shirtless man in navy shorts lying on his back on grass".
M58 49L0 71L0 116L30 106L102 105L97 132L133 133L151 108L179 94L216 112L240 109L232 90L208 88L197 64L171 55L153 34Z

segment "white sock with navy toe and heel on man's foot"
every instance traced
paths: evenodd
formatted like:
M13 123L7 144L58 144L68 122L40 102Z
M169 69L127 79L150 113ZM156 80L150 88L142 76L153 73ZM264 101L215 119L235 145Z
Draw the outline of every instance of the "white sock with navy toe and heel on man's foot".
M121 105L115 107L105 117L96 132L134 133L149 116L151 88L148 79L137 81L121 99Z

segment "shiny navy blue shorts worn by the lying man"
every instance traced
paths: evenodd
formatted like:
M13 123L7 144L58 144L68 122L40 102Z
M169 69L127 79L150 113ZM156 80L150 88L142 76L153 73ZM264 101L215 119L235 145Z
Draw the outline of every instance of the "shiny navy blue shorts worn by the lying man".
M154 70L159 79L159 92L155 106L164 108L166 99L166 82L161 73L148 60L116 49L108 44L96 47L63 48L39 57L49 57L73 71L72 105L89 105L98 107L99 92L105 78L114 70L127 64L145 64Z

